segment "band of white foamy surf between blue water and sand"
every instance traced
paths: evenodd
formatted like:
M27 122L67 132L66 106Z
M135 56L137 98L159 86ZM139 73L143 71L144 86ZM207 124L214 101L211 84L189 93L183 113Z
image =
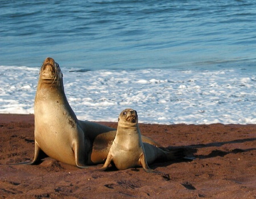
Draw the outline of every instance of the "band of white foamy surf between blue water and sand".
M79 119L117 121L131 107L143 123L256 123L256 74L240 69L69 72L67 99ZM0 66L0 113L34 113L39 68Z

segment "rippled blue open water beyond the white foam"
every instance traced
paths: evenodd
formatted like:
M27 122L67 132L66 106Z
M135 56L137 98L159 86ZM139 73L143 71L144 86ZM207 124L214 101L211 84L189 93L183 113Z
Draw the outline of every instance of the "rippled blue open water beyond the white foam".
M256 1L1 1L0 65L255 72Z

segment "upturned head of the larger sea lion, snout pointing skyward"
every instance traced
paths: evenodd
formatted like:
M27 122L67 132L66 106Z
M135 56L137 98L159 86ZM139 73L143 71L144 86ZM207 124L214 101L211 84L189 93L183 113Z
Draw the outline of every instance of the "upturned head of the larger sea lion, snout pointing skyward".
M47 57L40 69L40 78L44 80L44 82L59 84L60 81L62 82L62 77L63 74L61 73L59 64L51 57Z

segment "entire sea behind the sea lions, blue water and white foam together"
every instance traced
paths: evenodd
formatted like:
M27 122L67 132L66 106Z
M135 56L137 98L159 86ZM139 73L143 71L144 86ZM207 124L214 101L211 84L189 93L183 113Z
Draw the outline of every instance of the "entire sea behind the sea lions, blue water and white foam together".
M256 123L255 1L1 1L0 113L34 113L60 64L76 115Z

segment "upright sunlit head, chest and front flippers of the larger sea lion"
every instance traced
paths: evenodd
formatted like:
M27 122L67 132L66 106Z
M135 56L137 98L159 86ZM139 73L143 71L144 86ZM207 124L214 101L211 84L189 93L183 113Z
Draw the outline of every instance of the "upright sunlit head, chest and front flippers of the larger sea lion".
M43 151L63 163L85 167L90 142L65 96L59 64L50 57L40 69L34 109L35 156L31 164L41 159Z

